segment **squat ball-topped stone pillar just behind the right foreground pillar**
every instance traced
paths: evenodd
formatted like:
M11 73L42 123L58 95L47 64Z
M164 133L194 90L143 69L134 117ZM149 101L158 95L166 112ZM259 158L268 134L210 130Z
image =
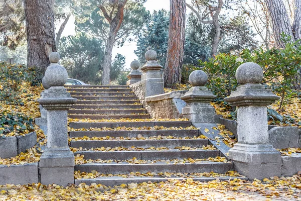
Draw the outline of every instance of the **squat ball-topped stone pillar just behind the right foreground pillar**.
M181 97L187 103L182 109L182 115L192 123L216 123L215 109L210 104L216 96L204 86L207 80L204 71L193 71L189 75L192 87Z

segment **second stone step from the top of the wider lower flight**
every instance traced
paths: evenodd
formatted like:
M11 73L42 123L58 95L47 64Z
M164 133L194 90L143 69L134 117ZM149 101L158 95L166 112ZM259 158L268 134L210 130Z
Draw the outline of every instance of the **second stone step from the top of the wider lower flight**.
M140 130L140 131L70 131L70 138L76 137L128 137L136 138L151 136L194 137L199 136L199 130Z

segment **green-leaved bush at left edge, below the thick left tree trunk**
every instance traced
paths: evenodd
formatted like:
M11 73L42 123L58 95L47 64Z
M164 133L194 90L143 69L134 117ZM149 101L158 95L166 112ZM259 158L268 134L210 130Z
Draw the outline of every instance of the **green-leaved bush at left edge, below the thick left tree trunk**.
M0 102L4 104L22 104L20 94L21 85L24 81L32 85L40 84L35 79L40 73L35 67L28 67L22 64L0 63Z

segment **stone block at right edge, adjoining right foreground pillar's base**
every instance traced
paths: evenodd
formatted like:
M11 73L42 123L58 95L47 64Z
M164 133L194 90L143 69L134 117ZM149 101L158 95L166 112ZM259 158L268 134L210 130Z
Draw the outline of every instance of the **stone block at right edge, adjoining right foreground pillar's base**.
M292 153L291 156L282 156L282 176L292 176L301 171L301 154Z

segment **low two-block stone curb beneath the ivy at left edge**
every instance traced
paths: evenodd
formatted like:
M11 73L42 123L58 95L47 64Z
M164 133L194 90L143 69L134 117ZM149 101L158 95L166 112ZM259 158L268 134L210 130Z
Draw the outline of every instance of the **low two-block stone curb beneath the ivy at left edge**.
M29 133L25 136L11 136L0 139L0 158L15 157L36 144L36 132Z

